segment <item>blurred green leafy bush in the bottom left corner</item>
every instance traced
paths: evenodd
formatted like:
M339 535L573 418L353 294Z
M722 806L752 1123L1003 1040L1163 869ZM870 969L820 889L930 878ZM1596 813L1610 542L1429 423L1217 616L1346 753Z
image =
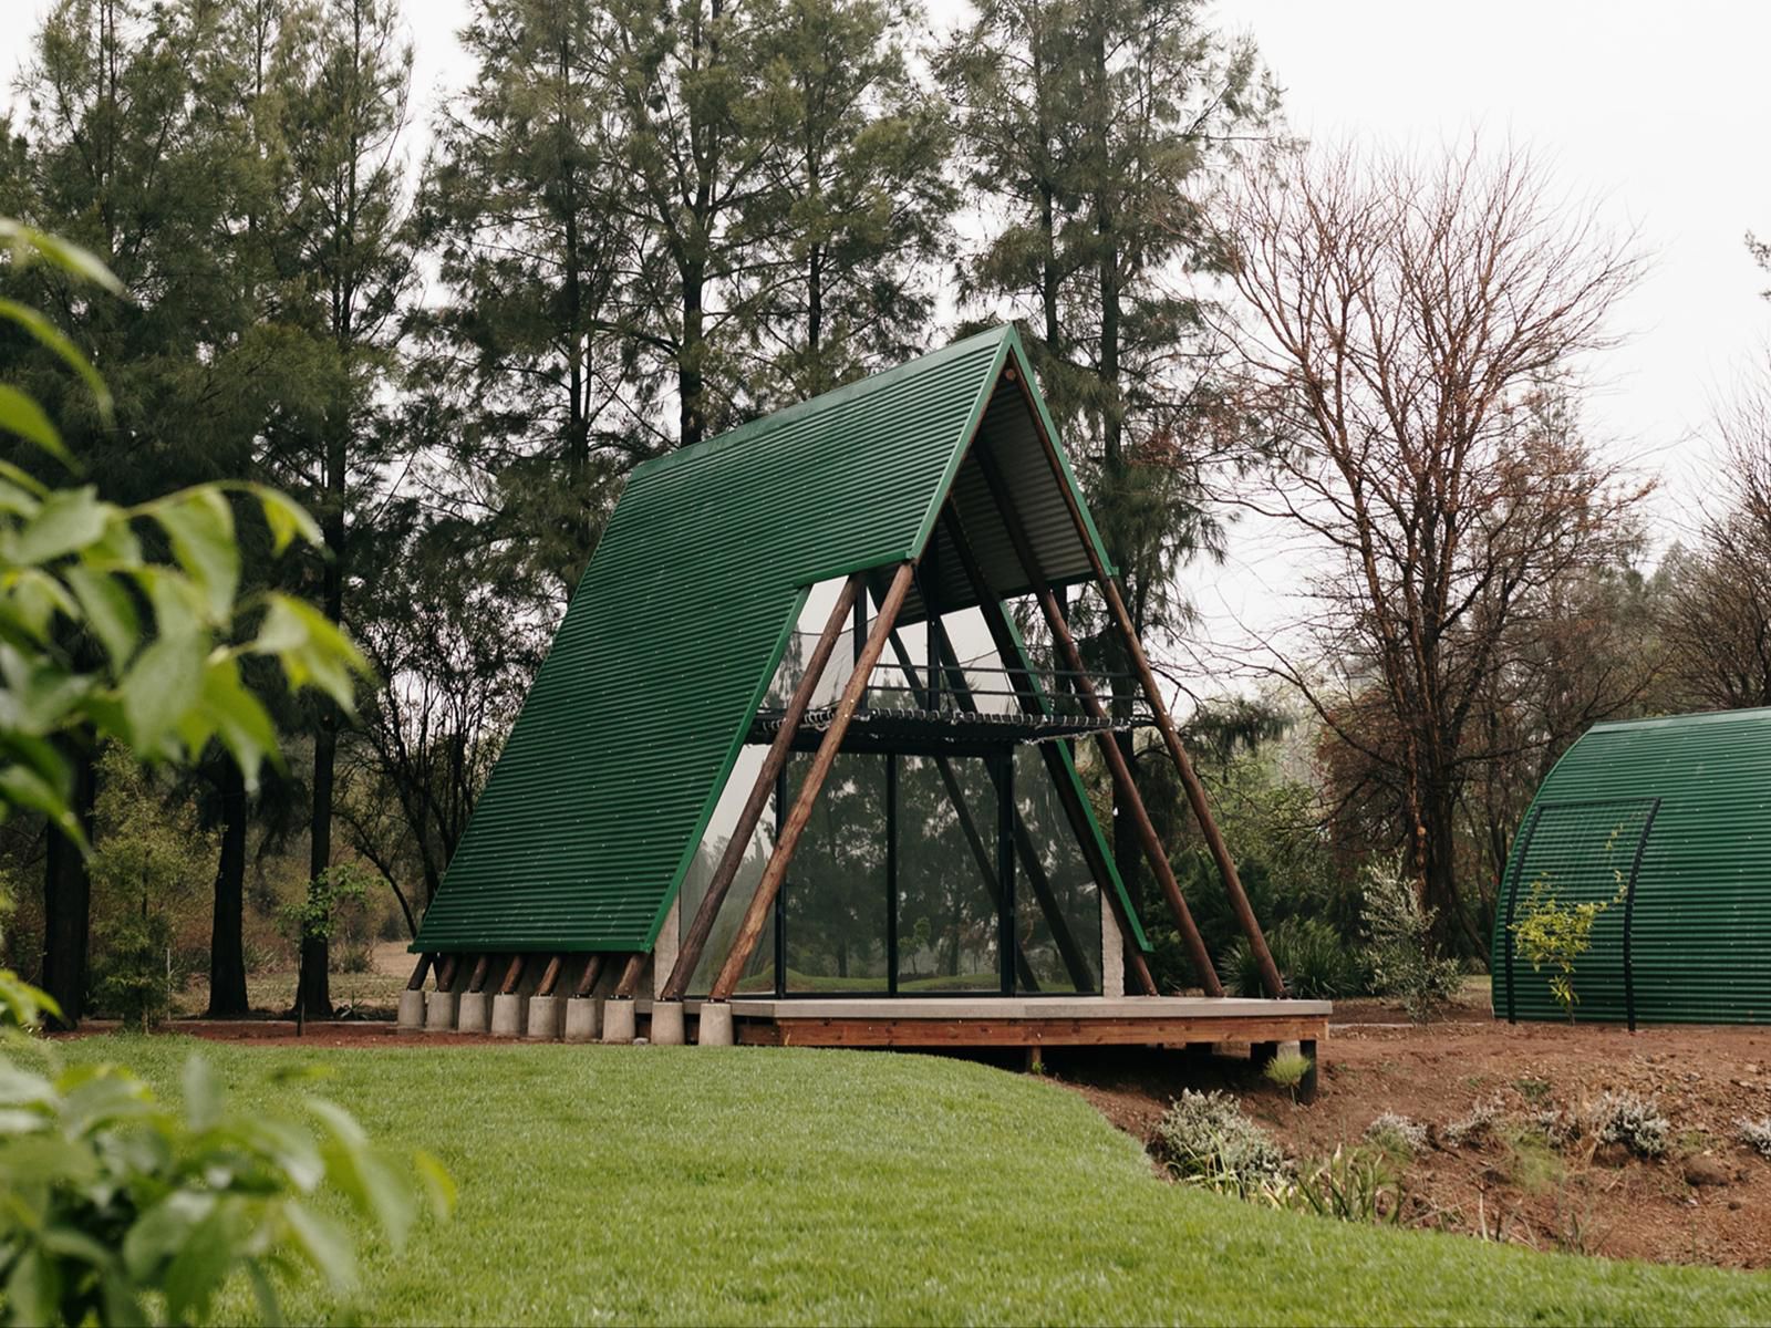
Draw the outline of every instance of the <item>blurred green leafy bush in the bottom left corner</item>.
M0 972L0 1038L51 1059L30 1031L55 1002ZM280 1093L312 1077L273 1073ZM420 1209L443 1216L455 1192L427 1153L397 1165L356 1119L303 1098L313 1131L282 1112L228 1110L220 1077L184 1062L182 1108L108 1062L44 1073L0 1055L0 1307L18 1324L204 1323L244 1275L266 1323L276 1284L303 1266L335 1294L356 1287L351 1232L312 1201L342 1195L395 1248Z

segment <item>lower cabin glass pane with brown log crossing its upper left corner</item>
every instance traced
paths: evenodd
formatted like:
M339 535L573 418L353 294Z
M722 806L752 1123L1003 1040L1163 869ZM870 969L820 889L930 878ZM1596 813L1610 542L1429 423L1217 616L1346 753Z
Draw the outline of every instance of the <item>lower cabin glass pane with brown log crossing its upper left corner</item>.
M788 765L788 799L811 767ZM841 754L788 868L786 990L884 993L886 758Z

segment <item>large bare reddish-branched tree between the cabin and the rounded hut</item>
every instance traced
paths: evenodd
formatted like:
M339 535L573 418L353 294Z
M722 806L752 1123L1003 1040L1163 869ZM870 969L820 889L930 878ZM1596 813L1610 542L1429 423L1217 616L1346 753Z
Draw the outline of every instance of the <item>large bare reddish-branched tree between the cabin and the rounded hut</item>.
M1231 211L1252 404L1282 436L1250 505L1319 549L1305 655L1275 652L1394 797L1440 942L1481 949L1458 873L1484 715L1528 627L1613 565L1645 492L1569 427L1569 375L1642 260L1516 149L1291 158Z

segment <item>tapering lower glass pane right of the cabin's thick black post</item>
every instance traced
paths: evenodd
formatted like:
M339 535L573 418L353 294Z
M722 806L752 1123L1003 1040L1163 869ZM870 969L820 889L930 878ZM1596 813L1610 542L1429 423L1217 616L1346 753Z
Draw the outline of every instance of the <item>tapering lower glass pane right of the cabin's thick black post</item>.
M1038 992L1102 990L1100 889L1036 747L1015 749L1015 935ZM1034 990L1017 972L1017 990Z

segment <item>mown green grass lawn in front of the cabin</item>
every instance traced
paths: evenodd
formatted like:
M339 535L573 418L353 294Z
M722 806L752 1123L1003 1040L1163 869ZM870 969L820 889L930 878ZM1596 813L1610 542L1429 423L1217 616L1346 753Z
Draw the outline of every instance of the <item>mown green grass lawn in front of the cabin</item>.
M161 1085L197 1043L94 1038ZM368 1323L1764 1323L1771 1278L1537 1255L1160 1181L1052 1084L932 1057L714 1048L202 1046L280 1062L460 1209L365 1259ZM239 1305L244 1305L241 1298ZM315 1287L294 1321L340 1316Z

